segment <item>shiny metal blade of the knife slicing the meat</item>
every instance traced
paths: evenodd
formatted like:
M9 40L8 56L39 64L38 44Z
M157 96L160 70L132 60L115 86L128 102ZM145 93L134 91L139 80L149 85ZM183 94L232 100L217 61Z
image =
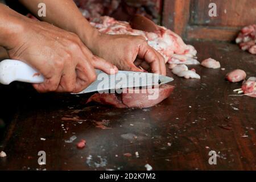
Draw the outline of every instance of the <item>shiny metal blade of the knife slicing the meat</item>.
M115 75L108 75L96 69L97 80L92 82L80 93L100 92L103 90L113 90L120 88L134 88L140 86L153 86L166 84L174 79L154 73L118 71Z

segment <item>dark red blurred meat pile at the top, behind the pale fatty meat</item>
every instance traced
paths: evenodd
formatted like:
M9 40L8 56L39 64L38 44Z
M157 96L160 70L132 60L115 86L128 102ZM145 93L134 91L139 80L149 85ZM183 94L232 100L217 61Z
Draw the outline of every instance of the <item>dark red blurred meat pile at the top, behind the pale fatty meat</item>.
M112 16L118 20L129 20L141 14L158 23L162 0L74 0L86 19Z

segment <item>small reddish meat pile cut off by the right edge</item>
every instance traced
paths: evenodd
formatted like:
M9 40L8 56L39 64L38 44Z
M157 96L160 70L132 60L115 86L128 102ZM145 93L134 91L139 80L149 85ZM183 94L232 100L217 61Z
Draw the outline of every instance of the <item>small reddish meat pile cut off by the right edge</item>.
M256 24L243 27L239 33L236 43L239 44L243 51L249 51L256 54Z

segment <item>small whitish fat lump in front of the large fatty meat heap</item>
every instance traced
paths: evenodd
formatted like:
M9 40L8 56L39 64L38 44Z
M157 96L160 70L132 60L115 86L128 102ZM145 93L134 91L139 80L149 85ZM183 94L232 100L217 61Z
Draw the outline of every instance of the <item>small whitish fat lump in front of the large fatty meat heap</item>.
M200 79L200 75L196 73L195 69L188 70L188 67L185 64L177 65L172 69L172 73L179 77L184 78L197 78Z

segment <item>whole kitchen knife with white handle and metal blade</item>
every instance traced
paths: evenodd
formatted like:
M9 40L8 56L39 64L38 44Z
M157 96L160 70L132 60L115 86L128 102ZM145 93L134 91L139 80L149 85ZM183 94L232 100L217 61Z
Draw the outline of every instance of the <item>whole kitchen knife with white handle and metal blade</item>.
M121 88L137 88L166 84L174 79L171 77L145 72L118 71L115 75L108 75L96 69L97 79L80 93L101 92ZM6 59L0 62L0 83L9 85L13 81L40 84L44 81L41 75L30 65L19 61Z

